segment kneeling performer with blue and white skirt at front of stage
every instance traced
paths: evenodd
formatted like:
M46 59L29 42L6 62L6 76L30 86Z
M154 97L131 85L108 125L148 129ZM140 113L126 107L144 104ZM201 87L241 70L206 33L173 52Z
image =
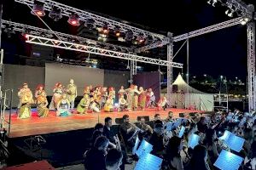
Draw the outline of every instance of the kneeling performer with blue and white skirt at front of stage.
M61 99L58 101L56 105L57 111L56 116L70 116L70 103L67 99L67 94L62 94Z

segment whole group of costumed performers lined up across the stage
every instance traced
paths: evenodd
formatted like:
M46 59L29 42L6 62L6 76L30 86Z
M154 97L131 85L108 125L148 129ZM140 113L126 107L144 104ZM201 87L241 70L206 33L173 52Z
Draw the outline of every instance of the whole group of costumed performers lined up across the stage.
M20 103L18 105L18 117L29 118L31 116L31 105L37 105L38 116L48 116L49 110L56 111L56 116L70 116L74 108L74 101L78 96L77 86L74 84L73 79L67 87L64 87L61 82L56 82L53 89L53 95L50 103L47 101L47 94L44 90L44 85L39 84L36 88L35 95L27 83L23 83L20 88L18 97ZM116 99L118 96L118 99ZM118 103L116 103L118 100ZM49 107L48 107L49 105ZM147 107L157 107L159 110L165 110L167 106L166 97L161 97L156 103L154 92L152 88L144 89L143 87L137 87L137 85L131 85L125 89L120 87L117 92L113 87L92 87L86 86L84 88L84 96L77 105L78 114L87 114L91 112L100 111L144 111Z

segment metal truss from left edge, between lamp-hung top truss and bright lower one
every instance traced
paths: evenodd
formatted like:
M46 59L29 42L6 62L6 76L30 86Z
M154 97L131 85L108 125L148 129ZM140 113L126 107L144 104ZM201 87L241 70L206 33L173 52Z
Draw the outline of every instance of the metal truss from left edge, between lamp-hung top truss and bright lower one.
M65 41L65 42L77 42L77 43L83 43L84 45L94 45L97 48L107 48L114 51L120 51L125 53L128 53L132 50L131 48L125 48L125 47L113 45L106 42L98 42L98 41L90 40L84 37L77 37L77 36L57 32L57 31L50 31L47 29L38 28L35 26L27 26L24 24L20 24L20 23L8 21L8 20L2 20L2 29L4 29L7 26L9 26L9 28L11 28L13 31L20 31L21 33L23 32L23 33L32 34L35 36L41 36L41 37L44 36L49 38L53 38L53 37L56 38L57 36L58 38L61 39L61 41Z

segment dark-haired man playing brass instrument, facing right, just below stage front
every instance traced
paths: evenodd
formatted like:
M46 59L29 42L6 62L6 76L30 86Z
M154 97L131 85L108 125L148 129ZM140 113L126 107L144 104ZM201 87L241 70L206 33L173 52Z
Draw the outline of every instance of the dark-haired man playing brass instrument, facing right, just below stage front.
M120 133L124 139L126 145L131 147L134 146L135 141L132 139L132 136L137 131L137 127L130 123L130 118L128 115L123 116L124 123L120 125Z

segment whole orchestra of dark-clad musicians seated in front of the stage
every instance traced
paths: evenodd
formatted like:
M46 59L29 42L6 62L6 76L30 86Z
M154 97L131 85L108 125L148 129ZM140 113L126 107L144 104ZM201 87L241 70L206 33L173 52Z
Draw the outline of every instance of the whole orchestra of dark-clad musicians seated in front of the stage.
M218 111L211 115L188 114L175 119L170 111L165 119L160 114L155 114L154 121L146 122L145 118L141 117L139 122L133 124L129 116L124 115L117 133L113 132L112 119L107 117L105 125L96 124L91 138L91 148L84 153L84 167L87 170L124 169L126 163L138 161L133 150L137 150L134 146L139 139L153 145L150 154L163 159L160 169L218 169L213 165L214 162L222 150L228 150L243 158L239 169L255 170L255 117L255 112L249 114L236 110ZM174 124L177 126L173 126ZM180 135L183 127L184 133ZM241 151L231 150L220 138L225 131L245 139ZM199 141L191 148L189 139L194 134L199 136Z

